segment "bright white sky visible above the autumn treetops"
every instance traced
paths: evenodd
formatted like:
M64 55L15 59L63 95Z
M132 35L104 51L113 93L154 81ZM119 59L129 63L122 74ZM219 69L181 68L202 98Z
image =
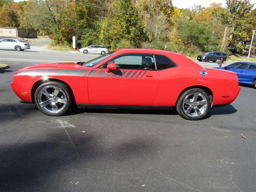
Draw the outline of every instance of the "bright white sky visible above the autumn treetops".
M21 0L14 0L15 2L19 2ZM78 0L79 1L79 0ZM191 8L193 4L201 5L202 7L209 7L212 2L221 3L222 7L225 6L226 0L172 0L172 4L175 7L181 8ZM256 7L256 0L251 0L251 3L255 4L254 8Z

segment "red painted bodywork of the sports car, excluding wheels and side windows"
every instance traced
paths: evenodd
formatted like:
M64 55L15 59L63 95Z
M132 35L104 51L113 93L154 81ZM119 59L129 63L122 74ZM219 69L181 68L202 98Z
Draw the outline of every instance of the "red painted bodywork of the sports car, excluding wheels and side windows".
M175 106L182 91L192 86L204 86L213 94L213 105L229 104L240 88L236 73L203 68L187 57L167 51L118 49L116 53L93 67L77 63L32 65L13 74L11 83L16 95L32 101L37 82L57 79L68 84L76 104ZM107 73L98 68L113 58L128 53L164 55L177 67L163 70L121 69ZM202 76L200 71L207 72ZM25 92L25 93L24 93ZM27 92L27 93L26 93Z

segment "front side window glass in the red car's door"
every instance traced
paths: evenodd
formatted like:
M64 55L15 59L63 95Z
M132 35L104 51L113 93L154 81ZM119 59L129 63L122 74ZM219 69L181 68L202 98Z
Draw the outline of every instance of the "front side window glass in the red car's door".
M107 68L109 63L115 63L117 69L141 69L154 70L155 60L153 55L148 54L128 54L122 55L100 66L100 68Z

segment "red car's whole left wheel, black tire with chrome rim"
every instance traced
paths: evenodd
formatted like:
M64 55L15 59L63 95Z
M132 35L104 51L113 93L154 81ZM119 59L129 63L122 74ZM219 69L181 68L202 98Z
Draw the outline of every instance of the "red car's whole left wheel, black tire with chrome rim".
M69 109L72 98L67 85L50 81L36 89L34 100L36 107L45 115L60 116Z

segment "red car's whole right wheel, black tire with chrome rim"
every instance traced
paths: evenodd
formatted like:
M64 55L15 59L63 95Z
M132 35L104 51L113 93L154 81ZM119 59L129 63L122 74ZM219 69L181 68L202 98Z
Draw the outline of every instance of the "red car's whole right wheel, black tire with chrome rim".
M198 95L196 101L194 95ZM201 100L200 100L201 99ZM188 104L189 103L189 104ZM205 103L199 105L199 103ZM199 106L199 107L198 107ZM211 107L209 95L202 89L193 88L185 91L180 96L176 109L181 117L188 120L198 120L203 118ZM197 112L196 112L197 111Z

